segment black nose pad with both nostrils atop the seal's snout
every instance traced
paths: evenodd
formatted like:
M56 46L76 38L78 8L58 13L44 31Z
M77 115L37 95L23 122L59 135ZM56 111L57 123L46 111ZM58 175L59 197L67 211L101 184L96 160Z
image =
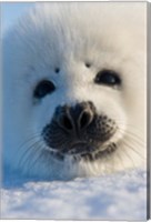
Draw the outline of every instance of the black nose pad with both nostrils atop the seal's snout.
M81 132L93 120L94 105L92 102L78 103L74 107L58 107L57 120L61 128L68 132Z

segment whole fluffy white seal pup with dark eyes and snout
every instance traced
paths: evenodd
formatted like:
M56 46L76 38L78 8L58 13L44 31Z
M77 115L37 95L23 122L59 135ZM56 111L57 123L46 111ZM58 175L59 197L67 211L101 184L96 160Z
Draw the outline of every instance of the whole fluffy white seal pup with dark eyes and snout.
M42 180L145 162L145 3L39 3L3 40L3 160Z

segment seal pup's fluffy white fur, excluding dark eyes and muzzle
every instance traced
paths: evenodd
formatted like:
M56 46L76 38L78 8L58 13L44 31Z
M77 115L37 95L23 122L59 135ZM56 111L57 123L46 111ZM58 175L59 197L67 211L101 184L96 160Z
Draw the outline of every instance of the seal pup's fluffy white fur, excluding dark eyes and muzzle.
M10 169L40 179L110 173L145 160L145 2L39 3L3 41L3 160ZM84 63L90 62L91 68ZM54 69L60 68L60 73ZM122 88L97 85L101 69L113 69ZM42 79L57 85L40 104L33 90ZM100 161L60 163L42 154L40 133L59 104L93 101L113 118L121 140Z

